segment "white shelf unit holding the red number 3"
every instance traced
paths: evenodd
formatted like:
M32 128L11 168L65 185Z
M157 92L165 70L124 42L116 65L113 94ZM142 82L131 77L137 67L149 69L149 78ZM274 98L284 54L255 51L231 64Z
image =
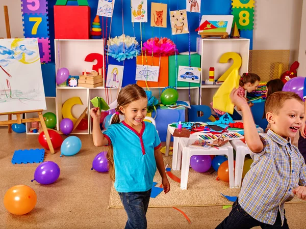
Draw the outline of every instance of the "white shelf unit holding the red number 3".
M85 62L85 58L90 53L99 53L104 56L104 39L90 39L90 40L55 40L55 64L56 64L56 73L60 68L67 68L71 76L79 76L83 71L91 72L93 65L97 64L97 61L94 62ZM104 62L103 62L103 77L105 79L104 72ZM100 89L100 88L96 88ZM75 134L88 134L90 125L90 116L89 116L89 101L91 90L83 87L57 87L57 104L56 104L56 115L57 115L57 128L59 130L60 122L62 121L62 106L64 102L71 97L80 97L83 105L74 105L71 108L72 116L78 119L81 113L86 107L87 116L88 116L88 129L87 130L78 130L76 129L73 133ZM102 97L102 96L100 96Z

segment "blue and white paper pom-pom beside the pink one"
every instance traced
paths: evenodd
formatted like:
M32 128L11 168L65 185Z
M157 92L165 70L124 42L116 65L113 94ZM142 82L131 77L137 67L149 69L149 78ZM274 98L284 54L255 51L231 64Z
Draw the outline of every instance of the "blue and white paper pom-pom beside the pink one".
M135 37L125 36L109 38L106 53L117 61L132 59L140 53L140 45Z

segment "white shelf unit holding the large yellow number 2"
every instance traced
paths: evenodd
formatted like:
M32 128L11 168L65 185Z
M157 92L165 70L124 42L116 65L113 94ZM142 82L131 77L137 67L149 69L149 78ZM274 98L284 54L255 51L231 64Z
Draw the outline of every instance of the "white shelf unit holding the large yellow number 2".
M201 55L201 80L209 79L209 68L215 68L215 79L218 79L233 64L233 60L227 63L219 63L220 57L225 52L237 52L242 59L239 74L248 72L250 40L197 38L197 53ZM210 106L213 96L221 85L203 84L201 86L200 104Z

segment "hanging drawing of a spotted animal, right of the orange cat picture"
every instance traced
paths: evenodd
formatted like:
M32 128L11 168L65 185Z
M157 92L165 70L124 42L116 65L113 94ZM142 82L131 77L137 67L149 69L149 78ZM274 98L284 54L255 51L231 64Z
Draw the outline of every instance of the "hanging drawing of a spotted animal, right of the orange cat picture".
M186 10L170 11L172 35L188 34L188 21Z

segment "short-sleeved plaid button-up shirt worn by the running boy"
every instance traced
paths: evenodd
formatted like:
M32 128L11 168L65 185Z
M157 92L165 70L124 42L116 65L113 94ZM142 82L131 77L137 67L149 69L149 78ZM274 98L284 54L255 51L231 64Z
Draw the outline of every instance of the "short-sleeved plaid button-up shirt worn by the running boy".
M306 186L306 165L291 141L268 130L260 135L264 149L250 153L254 162L245 175L239 204L250 216L273 225L277 210L284 223L284 203L294 197L293 188Z

